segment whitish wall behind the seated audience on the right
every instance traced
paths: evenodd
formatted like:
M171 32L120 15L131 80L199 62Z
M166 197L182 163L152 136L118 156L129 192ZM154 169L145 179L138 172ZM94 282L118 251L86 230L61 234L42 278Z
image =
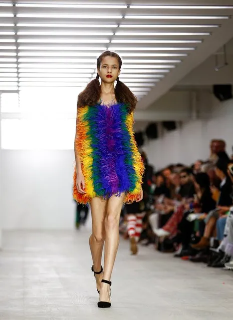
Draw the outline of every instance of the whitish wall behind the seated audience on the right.
M207 159L209 141L224 139L226 151L233 145L233 100L219 103L214 99L209 119L183 123L180 129L166 132L162 138L149 140L143 149L149 162L160 169L170 163L190 165L196 159Z

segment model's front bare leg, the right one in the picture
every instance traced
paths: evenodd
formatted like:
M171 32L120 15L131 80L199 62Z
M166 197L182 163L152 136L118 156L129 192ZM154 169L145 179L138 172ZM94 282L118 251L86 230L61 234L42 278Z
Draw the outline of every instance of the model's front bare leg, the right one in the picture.
M110 281L113 265L116 259L117 249L119 246L119 220L125 193L120 197L111 196L108 199L105 225L105 249L104 249L104 279ZM110 285L101 283L100 301L110 302L109 297Z

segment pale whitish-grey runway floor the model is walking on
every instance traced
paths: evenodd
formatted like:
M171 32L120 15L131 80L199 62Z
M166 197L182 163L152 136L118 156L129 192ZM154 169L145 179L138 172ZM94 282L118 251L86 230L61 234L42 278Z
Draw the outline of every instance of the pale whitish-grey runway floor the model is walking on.
M112 307L97 307L89 232L4 232L1 320L232 320L233 272L207 268L121 238Z

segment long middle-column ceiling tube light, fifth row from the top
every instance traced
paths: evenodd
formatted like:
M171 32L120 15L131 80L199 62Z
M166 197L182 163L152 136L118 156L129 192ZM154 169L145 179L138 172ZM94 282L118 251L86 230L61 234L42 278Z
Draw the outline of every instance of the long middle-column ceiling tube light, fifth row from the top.
M0 40L1 41L1 40ZM24 39L20 38L19 43L83 43L83 44L95 44L95 43L109 43L108 39Z

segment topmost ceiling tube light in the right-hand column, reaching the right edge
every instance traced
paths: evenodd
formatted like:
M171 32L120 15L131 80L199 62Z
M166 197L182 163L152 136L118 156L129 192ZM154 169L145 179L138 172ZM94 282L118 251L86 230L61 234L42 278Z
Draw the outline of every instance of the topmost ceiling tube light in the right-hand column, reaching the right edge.
M130 9L233 9L233 6L130 5Z

